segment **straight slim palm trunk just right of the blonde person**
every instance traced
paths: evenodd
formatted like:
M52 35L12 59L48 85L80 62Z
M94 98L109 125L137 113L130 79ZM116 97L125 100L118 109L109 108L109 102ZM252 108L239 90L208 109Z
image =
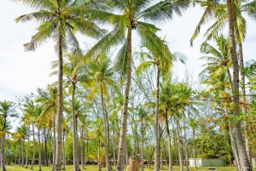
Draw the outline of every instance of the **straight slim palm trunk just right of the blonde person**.
M159 142L159 82L160 82L160 69L157 66L156 74L156 94L155 94L155 109L154 109L154 171L159 171L160 169L160 142Z

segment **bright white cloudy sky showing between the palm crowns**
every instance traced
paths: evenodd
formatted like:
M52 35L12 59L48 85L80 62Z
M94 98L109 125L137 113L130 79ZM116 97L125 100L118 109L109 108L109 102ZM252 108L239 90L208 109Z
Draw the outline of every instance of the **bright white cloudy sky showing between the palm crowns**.
M22 3L14 3L8 0L0 2L0 100L15 100L15 96L30 94L37 88L44 88L53 83L56 77L49 77L50 62L57 60L54 52L54 43L50 40L44 43L35 52L25 52L24 43L28 43L36 32L38 23L30 21L15 23L15 18L21 14L32 12ZM189 39L197 25L202 11L199 8L191 8L183 17L174 17L165 25L159 26L160 36L165 37L172 52L181 52L188 57L187 67L193 71L195 77L201 71L203 61L198 60L202 55L199 46L204 41L202 34L195 40L194 47L190 47ZM247 20L247 38L243 45L245 61L256 59L255 37L256 22ZM201 33L207 29L202 28ZM133 37L135 42L137 38ZM85 37L79 37L85 42ZM137 47L137 49L139 49ZM183 77L184 66L177 65L174 71L178 77Z

